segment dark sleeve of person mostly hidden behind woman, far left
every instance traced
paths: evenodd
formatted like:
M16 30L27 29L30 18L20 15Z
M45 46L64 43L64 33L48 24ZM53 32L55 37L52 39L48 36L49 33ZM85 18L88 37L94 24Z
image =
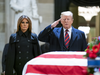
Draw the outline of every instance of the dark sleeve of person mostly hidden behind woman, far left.
M3 54L2 54L2 72L5 71L5 62L6 62L5 58L6 58L6 55L7 55L8 46L9 46L8 43L5 44L4 49L3 49Z

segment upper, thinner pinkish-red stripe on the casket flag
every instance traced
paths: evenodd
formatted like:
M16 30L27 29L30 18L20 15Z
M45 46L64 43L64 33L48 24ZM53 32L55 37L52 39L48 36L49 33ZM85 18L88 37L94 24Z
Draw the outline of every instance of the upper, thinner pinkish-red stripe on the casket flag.
M66 55L66 54L43 54L43 55L40 55L36 58L40 58L40 57L43 57L43 58L80 58L80 59L84 59L83 58L83 55L76 55L76 54L73 54L73 55Z

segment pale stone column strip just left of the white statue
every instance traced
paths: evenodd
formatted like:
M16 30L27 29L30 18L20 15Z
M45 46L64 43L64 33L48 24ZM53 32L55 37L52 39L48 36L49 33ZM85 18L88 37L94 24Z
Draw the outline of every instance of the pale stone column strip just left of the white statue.
M14 12L10 8L10 0L5 0L5 43L9 42L9 37L13 30Z

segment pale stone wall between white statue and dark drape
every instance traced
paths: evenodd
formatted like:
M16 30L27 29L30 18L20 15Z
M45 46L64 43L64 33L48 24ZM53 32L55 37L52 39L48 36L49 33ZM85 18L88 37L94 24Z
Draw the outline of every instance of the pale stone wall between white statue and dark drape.
M54 0L37 0L37 2L38 13L43 18L43 21L39 27L40 32L54 21ZM43 44L43 42L40 42L40 45L41 44Z

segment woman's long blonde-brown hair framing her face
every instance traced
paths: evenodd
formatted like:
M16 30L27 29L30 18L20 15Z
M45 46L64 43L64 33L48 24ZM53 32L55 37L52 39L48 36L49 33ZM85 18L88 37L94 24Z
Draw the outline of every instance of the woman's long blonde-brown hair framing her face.
M23 19L27 19L27 21L29 22L29 28L28 30L31 32L32 31L32 22L30 20L30 18L26 15L22 15L19 19L18 19L18 22L17 22L17 31L18 32L21 28L20 28L20 24L22 22Z

